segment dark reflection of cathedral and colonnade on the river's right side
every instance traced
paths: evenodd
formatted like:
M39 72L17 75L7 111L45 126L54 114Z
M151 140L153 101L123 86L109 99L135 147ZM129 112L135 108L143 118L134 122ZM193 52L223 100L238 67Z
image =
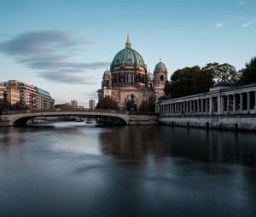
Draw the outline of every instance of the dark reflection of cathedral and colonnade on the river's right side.
M183 157L208 163L256 164L256 134L147 126L112 128L100 134L102 151L123 159Z

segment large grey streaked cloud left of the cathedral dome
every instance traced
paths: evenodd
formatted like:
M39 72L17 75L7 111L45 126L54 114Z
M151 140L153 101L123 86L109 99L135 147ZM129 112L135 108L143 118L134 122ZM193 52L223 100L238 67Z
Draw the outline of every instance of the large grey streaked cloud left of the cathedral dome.
M0 43L0 52L49 81L95 84L92 77L84 77L84 72L105 68L109 63L73 61L84 52L84 45L95 43L70 31L30 31Z

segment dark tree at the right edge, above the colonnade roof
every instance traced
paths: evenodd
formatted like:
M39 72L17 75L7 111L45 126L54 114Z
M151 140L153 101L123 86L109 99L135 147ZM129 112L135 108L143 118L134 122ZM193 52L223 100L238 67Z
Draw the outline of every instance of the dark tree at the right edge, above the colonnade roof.
M256 57L253 57L249 63L246 63L246 67L239 71L240 79L239 85L256 83Z

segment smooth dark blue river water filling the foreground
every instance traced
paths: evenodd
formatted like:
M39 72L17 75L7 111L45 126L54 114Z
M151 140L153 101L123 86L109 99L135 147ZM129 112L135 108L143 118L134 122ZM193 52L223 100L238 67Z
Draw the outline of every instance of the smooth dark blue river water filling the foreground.
M0 128L0 216L255 216L256 134Z

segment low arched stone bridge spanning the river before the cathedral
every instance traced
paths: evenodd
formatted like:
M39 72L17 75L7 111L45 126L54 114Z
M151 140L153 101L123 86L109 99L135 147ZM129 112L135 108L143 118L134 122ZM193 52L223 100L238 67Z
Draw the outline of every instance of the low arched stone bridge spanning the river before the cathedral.
M0 126L23 126L35 117L95 117L104 124L157 124L156 116L129 115L125 111L105 109L6 111L0 115Z

